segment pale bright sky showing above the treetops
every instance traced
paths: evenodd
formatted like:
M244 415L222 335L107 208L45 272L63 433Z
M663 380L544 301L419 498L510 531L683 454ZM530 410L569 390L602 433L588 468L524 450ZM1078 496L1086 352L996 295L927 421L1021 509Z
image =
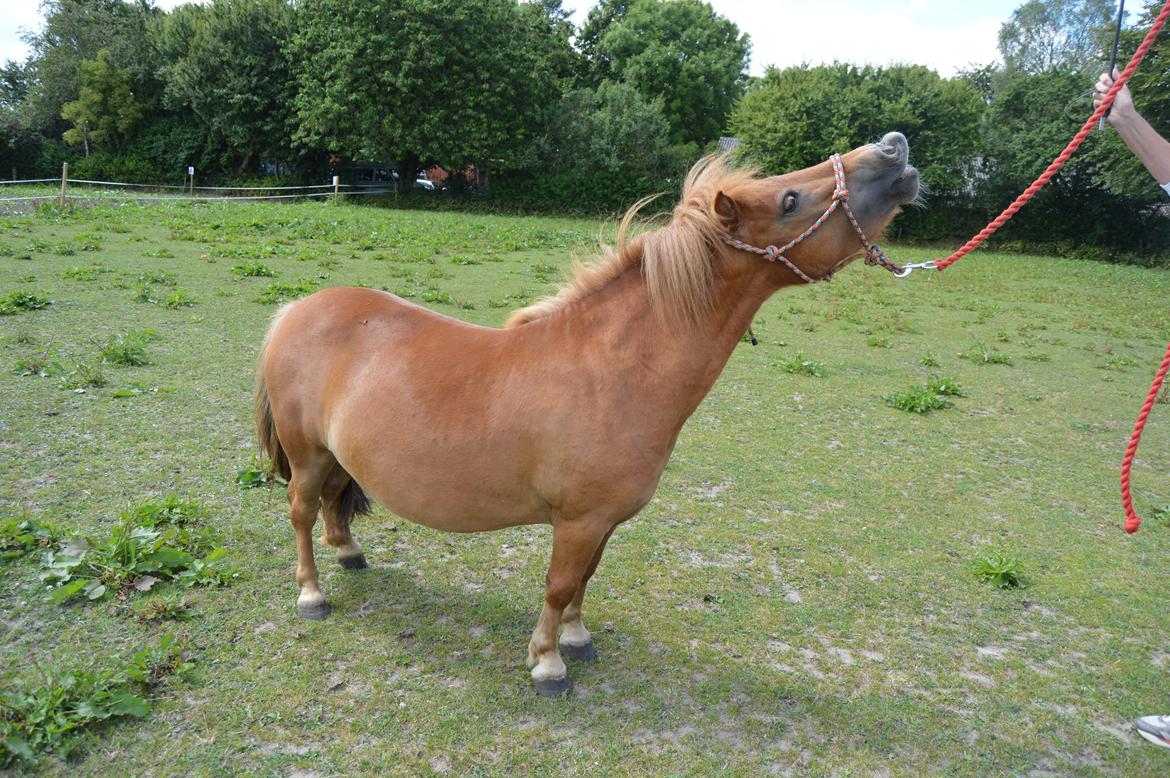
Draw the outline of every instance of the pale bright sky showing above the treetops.
M156 0L172 8L181 0ZM751 73L770 66L925 64L944 76L997 58L999 26L1023 0L709 0L751 36ZM565 0L578 23L593 0ZM40 0L4 0L0 61L23 60L22 30L40 28Z

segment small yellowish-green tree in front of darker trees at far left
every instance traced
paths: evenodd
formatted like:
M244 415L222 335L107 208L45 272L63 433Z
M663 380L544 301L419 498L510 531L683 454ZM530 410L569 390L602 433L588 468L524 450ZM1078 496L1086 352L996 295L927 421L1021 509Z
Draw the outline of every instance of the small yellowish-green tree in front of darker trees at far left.
M130 76L110 64L105 49L96 60L83 60L80 70L80 95L64 104L61 118L73 125L64 132L66 142L83 144L89 157L91 142L121 145L142 118L142 108L130 88Z

